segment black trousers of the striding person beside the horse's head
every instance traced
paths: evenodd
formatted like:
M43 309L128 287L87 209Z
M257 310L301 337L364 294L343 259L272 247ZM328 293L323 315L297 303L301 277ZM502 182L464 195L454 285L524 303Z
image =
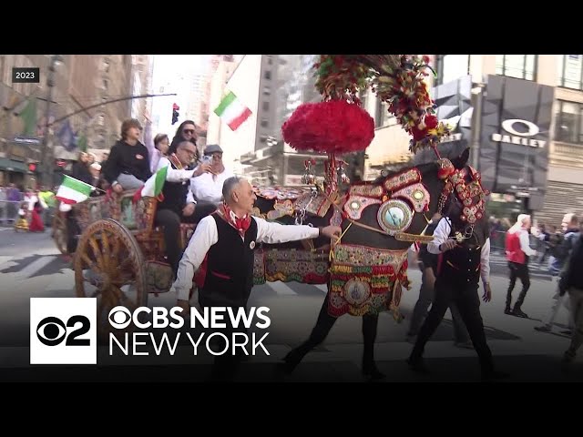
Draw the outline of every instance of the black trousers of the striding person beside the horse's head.
M466 284L462 282L451 283L443 278L437 278L435 281L435 301L421 330L419 330L417 341L411 352L411 361L421 360L425 343L435 333L441 320L444 319L445 311L453 301L459 309L467 332L474 344L482 372L487 373L494 370L492 352L486 343L486 333L484 332L484 323L480 314L480 300L477 288L477 281Z

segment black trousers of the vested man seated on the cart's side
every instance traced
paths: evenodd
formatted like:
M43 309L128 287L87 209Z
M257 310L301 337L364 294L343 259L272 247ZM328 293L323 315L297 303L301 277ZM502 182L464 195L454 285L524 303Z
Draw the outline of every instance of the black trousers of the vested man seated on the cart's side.
M182 214L179 215L171 209L159 209L156 212L154 223L163 227L166 255L175 277L179 271L179 262L182 258L182 249L180 249L179 243L180 223L198 223L201 219L213 213L215 209L217 207L214 203L199 202L194 207L194 213L188 217Z

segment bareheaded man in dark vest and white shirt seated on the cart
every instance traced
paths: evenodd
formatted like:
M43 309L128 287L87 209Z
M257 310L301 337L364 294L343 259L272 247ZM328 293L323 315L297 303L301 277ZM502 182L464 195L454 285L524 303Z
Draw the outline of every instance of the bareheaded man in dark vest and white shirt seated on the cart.
M196 145L182 141L176 153L160 158L160 162L165 162L169 168L162 188L164 199L158 204L154 223L163 227L166 255L175 277L182 255L179 246L180 222L198 223L216 209L208 202L197 204L190 191L190 178L210 172L210 164L200 164L193 170L185 169L196 156Z

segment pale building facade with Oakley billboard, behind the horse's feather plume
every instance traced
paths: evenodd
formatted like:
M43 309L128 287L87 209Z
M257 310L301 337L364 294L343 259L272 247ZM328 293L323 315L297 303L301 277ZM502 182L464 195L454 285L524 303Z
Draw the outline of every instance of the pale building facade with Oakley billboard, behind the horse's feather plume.
M507 170L506 181L497 184L491 210L510 218L526 210L538 222L554 225L560 225L566 212L583 213L583 56L438 55L433 56L433 66L437 77L430 86L445 86L471 77L470 95L465 98L460 94L456 100L470 101L474 111L468 139L471 163L487 173L491 166L486 166L486 150L492 139L500 143L495 156L496 173L506 166L502 171ZM375 100L370 94L369 97ZM543 101L549 98L545 106ZM502 102L505 107L497 116L500 126L494 127L491 121L496 113L494 107ZM413 161L408 152L410 138L400 126L394 125L394 118L378 102L369 102L367 108L377 126L373 143L367 149L369 175L373 176L370 170L374 168ZM543 119L545 112L548 120ZM512 114L520 114L513 117L518 121L509 119ZM535 118L536 122L532 121ZM539 139L534 139L535 132ZM518 150L519 162L512 163ZM511 164L514 172L508 169ZM546 172L544 181L537 178L541 172ZM512 179L516 179L516 184Z

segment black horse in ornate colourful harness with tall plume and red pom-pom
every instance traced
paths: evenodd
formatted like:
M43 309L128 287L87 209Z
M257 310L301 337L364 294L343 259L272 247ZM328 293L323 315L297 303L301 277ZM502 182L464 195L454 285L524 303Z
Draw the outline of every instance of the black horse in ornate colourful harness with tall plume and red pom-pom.
M431 239L422 235L424 229L435 211L458 192L454 190L466 189L460 180L467 175L477 180L471 187L481 203L468 198L463 206L474 222L484 216L484 190L479 173L466 166L468 149L451 160L439 154L437 146L449 129L435 117L424 82L426 56L322 55L315 67L322 102L298 107L282 126L282 134L298 150L328 154L323 181L306 161L303 182L311 187L256 188L254 214L286 224L340 225L343 234L333 243L315 239L264 245L256 259L255 280L328 285L312 334L285 357L286 371L325 339L338 317L350 314L363 317L363 374L378 379L384 376L373 360L378 315L388 310L396 320L402 319L402 287L409 288L407 249ZM346 178L346 163L338 157L363 151L374 136L373 118L357 97L368 86L412 136L410 150L430 147L435 161L384 172L371 182L351 183Z

